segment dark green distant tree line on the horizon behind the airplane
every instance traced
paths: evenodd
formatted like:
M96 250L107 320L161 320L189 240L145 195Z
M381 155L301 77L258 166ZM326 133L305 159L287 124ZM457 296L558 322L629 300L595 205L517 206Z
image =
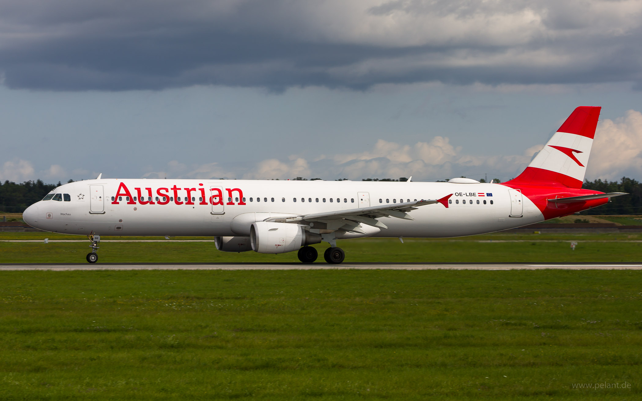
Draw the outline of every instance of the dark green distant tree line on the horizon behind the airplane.
M321 178L310 178L320 180ZM307 178L297 177L294 180L308 181ZM347 178L343 178L347 180ZM343 181L337 180L337 181ZM363 178L362 181L404 182L408 178ZM481 180L483 182L483 180ZM495 182L499 180L494 179ZM69 180L68 182L73 182ZM62 185L44 183L42 180L15 183L0 182L0 212L22 213L28 206L44 198L55 187ZM622 177L620 182L609 180L586 181L582 188L600 192L627 192L628 195L616 196L605 205L585 210L582 214L642 214L642 183L633 178Z

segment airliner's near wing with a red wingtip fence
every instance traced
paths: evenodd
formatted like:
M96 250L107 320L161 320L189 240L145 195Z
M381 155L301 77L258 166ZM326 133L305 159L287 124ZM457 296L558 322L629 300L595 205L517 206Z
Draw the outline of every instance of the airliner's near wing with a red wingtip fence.
M407 212L415 210L417 207L424 205L433 205L441 203L448 207L448 198L453 196L449 194L444 198L436 200L420 200L403 203L393 203L392 205L379 205L371 207L362 207L360 209L334 210L332 212L311 213L291 218L271 218L266 221L281 221L283 223L325 223L328 230L345 230L352 232L363 232L359 227L360 223L379 228L388 228L377 218L393 217L406 220L414 220ZM365 234L365 232L363 232Z

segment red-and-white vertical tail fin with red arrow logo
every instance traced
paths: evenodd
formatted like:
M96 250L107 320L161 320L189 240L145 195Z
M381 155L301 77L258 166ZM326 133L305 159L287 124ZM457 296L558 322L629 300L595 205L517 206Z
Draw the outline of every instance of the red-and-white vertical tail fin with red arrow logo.
M523 173L508 183L581 188L601 107L573 110Z

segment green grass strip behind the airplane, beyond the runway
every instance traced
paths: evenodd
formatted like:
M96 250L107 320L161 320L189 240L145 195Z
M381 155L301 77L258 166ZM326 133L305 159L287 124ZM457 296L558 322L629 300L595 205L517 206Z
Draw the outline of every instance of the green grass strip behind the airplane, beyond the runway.
M48 233L1 233L6 239L83 239ZM147 237L141 237L146 239ZM153 237L157 239L157 237ZM198 237L189 237L197 239ZM203 237L211 239L211 237ZM129 239L103 237L103 239ZM162 237L160 237L162 239ZM488 234L456 239L351 239L338 241L345 262L642 262L642 235L623 234ZM492 242L491 242L492 241ZM522 241L522 242L501 242ZM547 242L551 241L551 242ZM572 251L568 241L577 241ZM602 241L602 242L589 242ZM627 242L628 241L628 242ZM323 255L327 244L315 245ZM0 263L83 263L90 252L84 243L0 242ZM207 243L110 243L101 242L98 263L109 262L298 262L297 253L265 255L256 252L226 253ZM320 257L318 261L323 262Z

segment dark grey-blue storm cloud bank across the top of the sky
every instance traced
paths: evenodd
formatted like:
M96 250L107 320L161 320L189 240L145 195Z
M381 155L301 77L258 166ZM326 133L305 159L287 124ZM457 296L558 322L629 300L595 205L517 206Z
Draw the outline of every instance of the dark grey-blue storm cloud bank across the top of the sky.
M637 1L1 1L12 88L642 81Z

